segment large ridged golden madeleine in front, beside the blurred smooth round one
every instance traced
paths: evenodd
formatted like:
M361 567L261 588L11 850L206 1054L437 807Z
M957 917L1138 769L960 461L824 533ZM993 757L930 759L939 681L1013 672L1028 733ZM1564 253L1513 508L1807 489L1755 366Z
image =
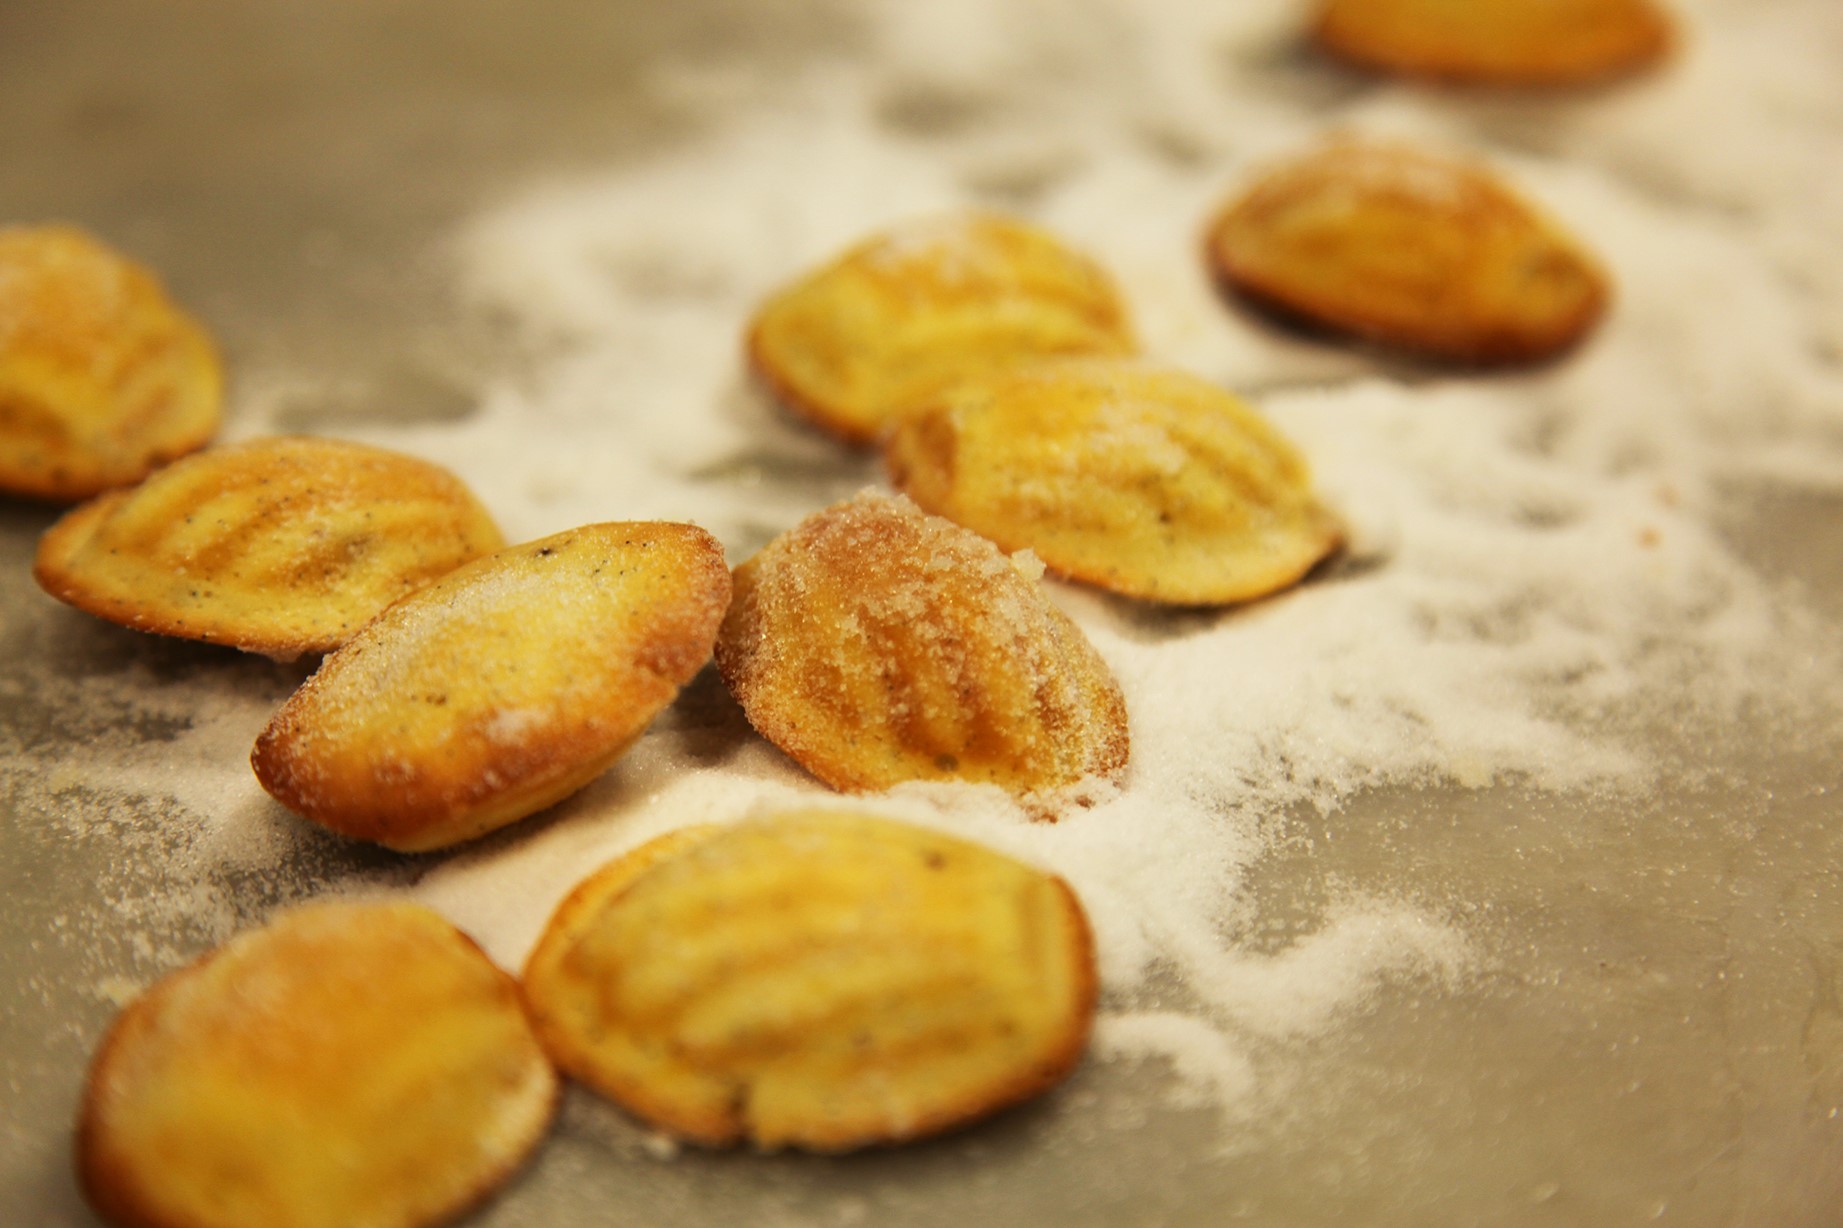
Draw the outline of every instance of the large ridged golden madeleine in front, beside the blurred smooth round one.
M525 998L564 1071L671 1134L848 1151L1054 1086L1087 1042L1095 961L1060 878L800 811L586 880Z

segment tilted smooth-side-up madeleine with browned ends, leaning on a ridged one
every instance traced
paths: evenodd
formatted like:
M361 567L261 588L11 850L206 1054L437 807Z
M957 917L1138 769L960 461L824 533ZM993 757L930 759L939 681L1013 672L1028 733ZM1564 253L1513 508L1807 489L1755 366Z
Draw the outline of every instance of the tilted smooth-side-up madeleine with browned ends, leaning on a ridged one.
M592 524L404 597L282 704L251 765L299 815L404 852L536 813L599 776L710 660L722 548Z

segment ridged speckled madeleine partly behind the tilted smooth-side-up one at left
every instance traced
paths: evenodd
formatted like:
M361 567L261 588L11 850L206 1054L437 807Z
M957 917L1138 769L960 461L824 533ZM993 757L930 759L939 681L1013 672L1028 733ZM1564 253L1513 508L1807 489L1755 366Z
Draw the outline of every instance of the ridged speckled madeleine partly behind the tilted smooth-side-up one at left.
M334 439L212 448L72 509L33 575L123 627L291 660L503 546L448 470Z

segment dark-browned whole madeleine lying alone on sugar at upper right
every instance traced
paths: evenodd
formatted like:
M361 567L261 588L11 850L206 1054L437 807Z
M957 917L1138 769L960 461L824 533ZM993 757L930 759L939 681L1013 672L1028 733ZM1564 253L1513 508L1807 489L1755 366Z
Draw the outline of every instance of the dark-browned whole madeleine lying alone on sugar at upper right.
M1259 302L1465 363L1557 354L1609 293L1598 262L1491 171L1404 144L1340 140L1268 171L1205 247Z

